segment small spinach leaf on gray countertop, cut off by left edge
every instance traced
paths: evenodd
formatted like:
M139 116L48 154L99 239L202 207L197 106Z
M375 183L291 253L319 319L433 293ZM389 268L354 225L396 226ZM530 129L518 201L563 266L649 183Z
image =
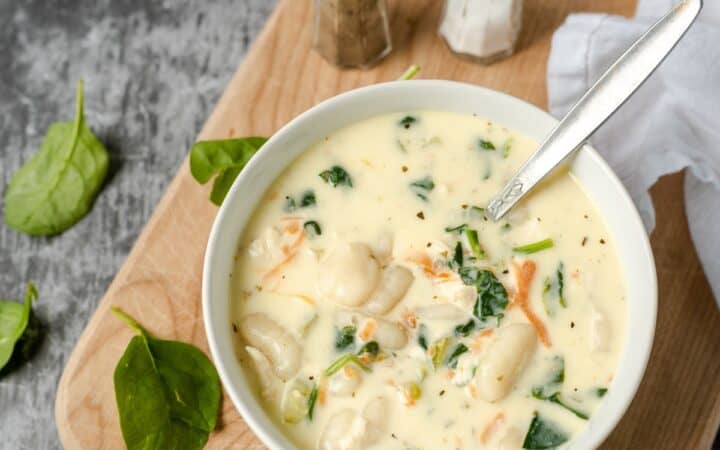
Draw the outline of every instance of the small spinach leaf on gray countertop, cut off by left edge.
M0 370L10 361L18 347L22 347L23 338L35 333L28 327L32 316L32 302L37 300L35 285L28 283L25 302L0 300Z

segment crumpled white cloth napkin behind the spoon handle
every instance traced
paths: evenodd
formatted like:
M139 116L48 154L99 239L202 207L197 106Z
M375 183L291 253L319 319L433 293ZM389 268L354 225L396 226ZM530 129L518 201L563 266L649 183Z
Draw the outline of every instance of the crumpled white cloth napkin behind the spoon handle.
M555 32L548 62L550 112L562 117L620 54L679 0L640 0L637 16L573 14ZM635 95L592 137L619 175L648 232L648 189L688 168L690 233L720 304L720 1L707 1L690 31Z

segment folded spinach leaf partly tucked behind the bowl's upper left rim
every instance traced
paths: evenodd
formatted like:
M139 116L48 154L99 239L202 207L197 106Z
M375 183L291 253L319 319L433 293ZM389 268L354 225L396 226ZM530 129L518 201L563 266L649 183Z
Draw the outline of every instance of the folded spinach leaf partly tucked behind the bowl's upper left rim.
M266 137L245 137L199 141L190 149L190 173L193 178L205 184L215 177L210 201L220 206L235 178L250 161L250 158L267 141Z

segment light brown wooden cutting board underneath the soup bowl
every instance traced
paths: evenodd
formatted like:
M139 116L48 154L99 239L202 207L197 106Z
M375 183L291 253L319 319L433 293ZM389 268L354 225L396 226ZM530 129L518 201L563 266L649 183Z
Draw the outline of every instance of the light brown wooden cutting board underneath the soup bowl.
M490 67L454 57L437 37L439 0L390 2L395 50L370 71L340 71L310 49L311 2L281 0L200 134L202 139L270 135L339 92L397 78L411 63L420 78L476 83L546 106L552 32L573 11L631 15L634 0L526 0L518 53ZM170 112L168 112L170 113ZM660 282L655 346L640 391L604 449L709 449L720 424L720 313L688 234L682 175L653 189L652 236ZM123 447L112 373L131 337L118 305L154 335L207 352L200 287L216 208L208 189L179 170L68 361L56 400L67 449ZM632 324L630 324L632 326ZM207 448L265 448L225 396ZM440 450L440 449L433 449Z

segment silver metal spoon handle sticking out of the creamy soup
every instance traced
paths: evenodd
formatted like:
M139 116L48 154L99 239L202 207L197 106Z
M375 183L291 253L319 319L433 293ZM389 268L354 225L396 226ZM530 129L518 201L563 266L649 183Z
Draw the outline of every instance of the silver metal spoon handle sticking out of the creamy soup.
M488 215L499 220L540 180L610 117L672 51L702 9L703 0L685 0L650 27L572 107L520 171L490 201Z

